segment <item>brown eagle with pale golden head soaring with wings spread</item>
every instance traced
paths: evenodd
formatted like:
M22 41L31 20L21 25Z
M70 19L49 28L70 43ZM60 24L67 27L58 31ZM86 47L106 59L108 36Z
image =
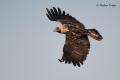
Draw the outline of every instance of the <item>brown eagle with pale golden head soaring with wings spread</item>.
M101 41L103 37L98 30L86 29L83 23L60 8L52 7L51 9L46 8L46 10L46 16L50 21L61 24L54 31L65 35L63 56L58 60L61 63L72 63L74 66L80 67L90 51L88 36L98 41Z

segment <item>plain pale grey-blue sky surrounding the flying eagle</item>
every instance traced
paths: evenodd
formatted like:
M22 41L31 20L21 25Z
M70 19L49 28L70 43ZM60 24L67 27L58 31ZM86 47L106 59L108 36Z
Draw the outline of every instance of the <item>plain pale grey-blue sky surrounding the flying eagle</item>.
M103 36L89 37L80 68L58 61L65 36L45 15L53 6ZM120 80L119 14L119 0L0 0L0 80Z

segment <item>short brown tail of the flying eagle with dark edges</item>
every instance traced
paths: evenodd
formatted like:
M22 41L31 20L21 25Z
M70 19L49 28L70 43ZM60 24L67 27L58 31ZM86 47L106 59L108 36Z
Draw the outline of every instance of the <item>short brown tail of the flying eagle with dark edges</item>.
M96 29L87 29L88 35L93 39L101 41L103 39L102 35Z

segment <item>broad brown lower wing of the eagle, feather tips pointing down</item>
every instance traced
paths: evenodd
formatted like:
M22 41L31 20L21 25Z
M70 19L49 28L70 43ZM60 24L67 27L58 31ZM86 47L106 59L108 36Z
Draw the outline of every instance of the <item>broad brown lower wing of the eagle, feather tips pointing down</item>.
M71 37L74 37L74 39ZM86 59L89 49L90 43L87 35L82 35L82 37L68 36L66 37L61 61L69 64L73 63L74 66L80 67L80 64L83 64Z

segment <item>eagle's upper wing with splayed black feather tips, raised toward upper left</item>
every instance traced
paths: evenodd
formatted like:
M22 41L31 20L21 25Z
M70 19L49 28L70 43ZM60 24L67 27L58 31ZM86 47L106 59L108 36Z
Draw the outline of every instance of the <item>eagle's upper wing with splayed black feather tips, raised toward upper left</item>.
M71 24L71 25L78 25L80 28L84 28L84 25L80 23L78 20L76 20L74 17L72 17L69 14L66 14L65 11L61 11L60 8L53 7L52 9L47 10L47 17L51 21L59 21L62 24Z

